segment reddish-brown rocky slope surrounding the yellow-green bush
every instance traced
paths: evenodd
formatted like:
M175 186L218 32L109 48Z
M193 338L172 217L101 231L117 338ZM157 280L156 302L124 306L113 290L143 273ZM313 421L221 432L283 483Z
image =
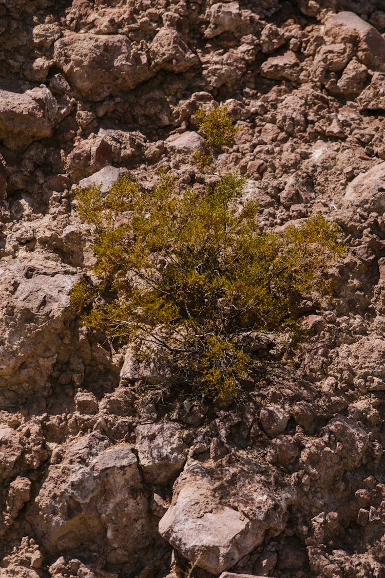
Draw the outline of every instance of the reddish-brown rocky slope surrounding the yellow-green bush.
M385 2L0 0L0 31L1 578L383 578ZM201 187L224 101L260 227L348 249L297 353L207 405L79 326L72 191Z

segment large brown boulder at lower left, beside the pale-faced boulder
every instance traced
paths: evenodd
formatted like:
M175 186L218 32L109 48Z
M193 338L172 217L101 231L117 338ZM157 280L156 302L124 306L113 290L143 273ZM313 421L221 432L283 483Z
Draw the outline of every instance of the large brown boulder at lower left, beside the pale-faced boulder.
M109 562L134 566L151 540L136 455L98 432L56 451L36 505L33 522L52 553L89 541Z

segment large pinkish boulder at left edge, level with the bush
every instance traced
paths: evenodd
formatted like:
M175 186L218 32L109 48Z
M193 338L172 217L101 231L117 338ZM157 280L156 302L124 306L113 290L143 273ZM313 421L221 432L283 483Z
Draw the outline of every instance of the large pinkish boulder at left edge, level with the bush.
M0 395L44 390L59 350L68 349L76 278L53 261L0 262Z

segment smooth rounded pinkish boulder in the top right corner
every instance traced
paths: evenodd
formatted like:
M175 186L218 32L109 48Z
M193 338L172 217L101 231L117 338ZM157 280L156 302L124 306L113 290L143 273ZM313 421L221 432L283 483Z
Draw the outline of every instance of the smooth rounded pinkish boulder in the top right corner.
M353 12L338 12L328 18L325 34L333 42L357 45L358 60L371 68L385 70L385 38Z

